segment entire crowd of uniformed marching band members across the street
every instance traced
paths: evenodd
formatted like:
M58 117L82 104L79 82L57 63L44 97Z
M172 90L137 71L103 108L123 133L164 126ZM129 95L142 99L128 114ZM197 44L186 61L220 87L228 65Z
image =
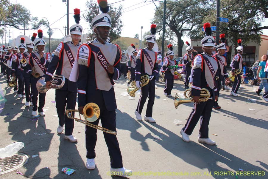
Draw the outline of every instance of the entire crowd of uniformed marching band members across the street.
M174 72L177 67L174 61L174 51L170 44L162 60L160 51L155 51L156 25L151 25L151 35L146 37L146 48L137 50L131 44L127 51L121 51L120 47L111 43L108 36L111 29L112 19L107 14L109 7L107 1L99 4L101 14L91 21L96 38L85 44L80 44L82 37L82 26L80 21L80 10L74 9L74 19L76 24L70 27L71 41L61 42L51 57L50 53L43 53L45 40L42 38L42 30L34 33L31 41L21 38L21 43L17 46L7 48L3 46L0 56L1 75L7 77L7 84L14 87L14 92L18 97L26 98L26 107L32 106L32 116L45 116L43 107L45 105L45 92L38 91L37 83L44 78L47 89L52 88L54 74L62 76L64 85L55 90L55 101L59 126L57 133L64 130L65 139L70 142L77 142L72 133L74 129L74 112L66 113L66 109L75 109L76 98L78 96L78 111L85 114L89 103L98 106L98 116L91 124L98 125L99 120L102 127L116 133L116 98L114 92L114 80L129 76L128 87L140 89L141 95L137 107L133 109L138 121L155 122L153 116L153 105L155 100L155 81L159 80L159 72L164 72L165 88L164 95L172 97L171 91L174 84ZM204 24L205 37L201 40L203 53L193 57L193 48L188 42L186 44L187 53L183 56L186 78L185 89L191 88L191 97L194 107L188 117L185 126L181 129L183 141L190 142L189 135L192 134L197 122L200 119L200 130L198 142L214 145L208 136L208 124L212 109L220 109L218 104L219 91L222 81L229 81L226 70L225 57L225 34L221 34L221 44L215 44L215 39L211 36L209 23ZM36 39L38 35L38 39ZM230 64L231 73L234 76L233 88L230 95L237 97L237 91L241 84L240 72L242 70L243 46L241 40L236 48L238 54L234 56ZM36 47L36 51L34 50ZM215 51L217 49L217 52ZM261 85L256 92L260 94L264 89L262 98L268 102L267 84L267 58L262 57L261 62L253 65L255 75L254 81L261 79ZM162 65L163 62L163 65ZM128 75L127 75L128 73ZM11 78L10 78L11 77ZM145 79L145 80L144 80ZM146 84L144 83L146 81ZM134 83L135 82L135 83ZM257 82L256 82L257 83ZM254 84L256 84L254 82ZM191 87L189 86L191 84ZM202 98L206 92L209 95L207 100ZM39 105L38 105L39 96ZM147 101L144 118L141 116L144 104ZM37 113L38 112L38 113ZM95 146L97 141L97 129L85 126L86 138L86 167L95 169ZM132 171L125 169L122 163L122 155L119 142L114 133L103 132L105 142L109 149L110 171L115 175L128 176Z

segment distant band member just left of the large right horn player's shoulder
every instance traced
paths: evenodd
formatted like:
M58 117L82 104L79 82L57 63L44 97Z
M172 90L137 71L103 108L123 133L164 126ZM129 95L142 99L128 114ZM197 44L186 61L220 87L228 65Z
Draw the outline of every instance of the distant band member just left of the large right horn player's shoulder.
M190 46L188 41L186 41L185 43L188 45L188 47L186 48L187 53L183 56L183 64L185 64L185 82L184 82L185 87L184 88L188 89L189 81L190 81L190 74L192 70L191 63L193 60L193 53L192 53L193 48Z

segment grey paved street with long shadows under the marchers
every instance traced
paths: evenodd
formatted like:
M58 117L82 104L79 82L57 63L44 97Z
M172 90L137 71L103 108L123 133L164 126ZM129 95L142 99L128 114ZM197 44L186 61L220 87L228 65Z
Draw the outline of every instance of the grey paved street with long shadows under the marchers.
M23 142L25 146L20 152L29 157L28 163L23 167L0 175L0 179L122 178L107 175L107 172L110 172L110 158L101 131L97 133L94 170L88 170L85 166L84 124L75 122L73 135L78 139L77 143L65 140L64 134L57 134L58 118L54 117L57 112L55 103L51 102L55 101L55 90L50 89L46 93L46 104L43 108L47 109L46 116L37 117L39 119L34 121L30 120L33 119L32 107L25 107L25 99L19 99L13 90L7 87L6 78L1 78L0 82L1 87L6 90L7 99L1 115L10 113L0 116L0 147L16 141ZM258 86L241 84L244 89L239 90L238 97L231 97L230 90L221 90L219 105L222 109L213 109L209 125L209 137L216 141L216 145L210 146L197 141L199 123L190 136L191 141L186 143L182 140L180 130L186 123L193 103L182 104L175 109L174 97L166 97L163 94L164 83L158 82L156 85L152 116L156 120L155 123L136 120L134 110L139 95L136 94L132 100L129 96L121 95L126 92L126 79L120 78L114 85L117 138L123 165L132 170L134 175L127 178L268 178L268 104L252 91L254 88L258 89ZM176 81L172 95L174 96L175 92L183 93L183 87L182 82ZM249 101L250 98L258 101ZM142 117L145 115L146 105ZM181 124L175 125L175 119L182 121ZM32 158L32 155L38 157ZM63 173L61 170L64 167L74 169L74 174ZM247 173L236 173L241 172L239 169ZM24 175L17 175L17 171ZM167 175L164 176L164 172ZM189 176L185 176L187 172ZM254 172L260 176L255 176ZM184 176L180 176L182 173ZM251 176L244 176L245 174Z

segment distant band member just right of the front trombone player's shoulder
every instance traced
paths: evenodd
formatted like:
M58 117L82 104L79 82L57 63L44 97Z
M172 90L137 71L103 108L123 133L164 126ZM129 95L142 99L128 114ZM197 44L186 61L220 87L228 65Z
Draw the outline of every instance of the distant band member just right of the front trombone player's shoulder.
M136 56L138 52L136 50L136 47L133 44L131 44L131 46L129 46L128 48L130 48L130 52L131 54L133 54L133 55L129 55L128 64L127 64L128 72L130 72L130 81L127 82L127 86L129 87L129 84L133 80L135 80Z

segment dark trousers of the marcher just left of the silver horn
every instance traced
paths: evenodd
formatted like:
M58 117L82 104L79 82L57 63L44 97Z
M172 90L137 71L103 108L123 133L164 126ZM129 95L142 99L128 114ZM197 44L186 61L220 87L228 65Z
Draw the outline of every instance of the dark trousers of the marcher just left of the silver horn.
M31 99L33 105L32 110L33 111L38 110L38 112L43 112L43 107L45 106L45 99L46 99L46 93L40 93L36 88L37 81L42 77L45 77L45 75L40 76L39 78L35 78L34 76L31 75L31 85L32 85ZM39 94L39 107L37 107L38 94Z

